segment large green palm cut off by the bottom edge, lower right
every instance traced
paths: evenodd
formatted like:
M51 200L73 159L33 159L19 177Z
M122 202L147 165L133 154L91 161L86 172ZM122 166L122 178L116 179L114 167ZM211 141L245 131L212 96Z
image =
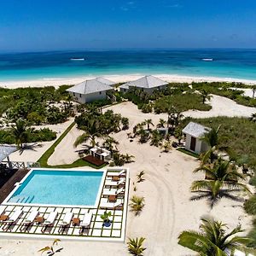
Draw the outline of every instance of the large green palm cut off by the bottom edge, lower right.
M249 238L235 236L243 232L241 226L237 226L227 233L227 225L212 218L201 218L200 231L186 230L178 236L178 244L188 247L201 256L230 256L236 250L250 253L253 249L247 248Z

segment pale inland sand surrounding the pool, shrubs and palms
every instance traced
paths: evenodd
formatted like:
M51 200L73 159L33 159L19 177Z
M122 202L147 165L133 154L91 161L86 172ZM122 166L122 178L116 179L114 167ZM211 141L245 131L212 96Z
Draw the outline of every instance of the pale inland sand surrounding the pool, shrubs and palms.
M211 117L226 113L223 108L229 106L228 116L247 116L247 107L236 104L236 102L226 102L226 98L213 96L211 102L212 110L200 114L200 117ZM156 125L160 118L166 119L166 114L142 113L137 106L131 102L124 102L109 107L114 113L121 113L130 119L130 129L112 134L119 141L119 151L122 154L132 154L135 162L125 165L130 168L130 197L140 195L145 197L145 207L140 216L135 217L132 212L128 212L126 225L126 239L128 237L146 237L145 256L185 256L195 255L188 249L177 244L177 236L183 230L198 230L200 218L203 215L211 214L212 217L222 220L230 225L230 229L241 224L244 230L251 228L251 218L244 212L242 203L236 201L222 200L212 210L207 206L206 201L190 201L191 192L189 187L196 179L203 178L202 173L194 174L193 170L199 166L199 161L186 154L172 149L169 153L161 152L160 148L150 146L149 143L140 144L135 139L130 142L127 139L127 132L132 131L133 125L144 119L151 118ZM106 111L105 109L104 111ZM253 109L255 111L256 109ZM194 115L196 112L186 113ZM70 120L71 121L71 120ZM69 122L70 122L69 121ZM51 127L55 131L60 131L68 124ZM81 134L76 127L67 134L61 143L55 148L55 153L49 158L49 164L58 165L71 163L78 159L78 153L73 148L73 142ZM27 151L23 154L17 152L11 155L11 160L37 160L38 154L49 148L38 148L36 151ZM86 169L89 169L86 167ZM137 183L137 173L144 171L145 181ZM137 191L134 192L134 185ZM241 195L244 196L244 195ZM232 216L232 218L230 218ZM51 241L27 241L27 240L2 240L0 255L40 255L38 249L48 245ZM92 242L92 241L61 241L64 247L60 255L99 255L99 256L125 256L127 249L125 243Z

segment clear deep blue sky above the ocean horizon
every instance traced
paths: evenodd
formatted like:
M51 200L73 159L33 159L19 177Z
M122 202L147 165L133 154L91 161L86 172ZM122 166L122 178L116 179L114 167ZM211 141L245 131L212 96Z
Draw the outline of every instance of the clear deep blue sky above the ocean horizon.
M256 48L256 1L0 2L0 51L109 48Z

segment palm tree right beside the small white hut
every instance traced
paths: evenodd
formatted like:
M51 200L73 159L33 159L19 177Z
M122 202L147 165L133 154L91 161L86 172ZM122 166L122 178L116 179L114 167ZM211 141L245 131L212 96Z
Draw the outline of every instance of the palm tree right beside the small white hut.
M212 128L212 130L207 130L205 135L201 137L201 141L207 143L209 146L209 149L205 154L202 156L202 163L206 163L207 160L210 160L212 163L216 159L216 151L225 151L227 153L230 152L230 147L228 146L221 146L221 142L226 138L226 137L220 137L218 135L219 129L221 125L218 125L218 128Z

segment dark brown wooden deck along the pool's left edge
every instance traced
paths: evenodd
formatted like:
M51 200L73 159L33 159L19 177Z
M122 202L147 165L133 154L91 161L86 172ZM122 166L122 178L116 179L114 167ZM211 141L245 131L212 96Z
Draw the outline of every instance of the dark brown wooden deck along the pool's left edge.
M9 178L7 183L5 183L0 189L0 203L2 203L9 193L15 189L15 183L20 182L20 180L25 177L26 173L29 171L29 169L19 169L12 177Z

